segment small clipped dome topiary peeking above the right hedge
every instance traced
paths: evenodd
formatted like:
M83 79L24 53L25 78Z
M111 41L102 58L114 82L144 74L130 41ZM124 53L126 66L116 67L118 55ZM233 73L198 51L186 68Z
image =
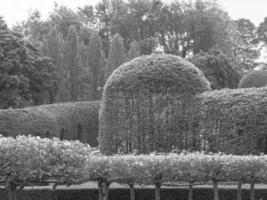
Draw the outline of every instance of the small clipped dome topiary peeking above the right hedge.
M267 86L267 70L255 70L243 76L238 88L264 87Z

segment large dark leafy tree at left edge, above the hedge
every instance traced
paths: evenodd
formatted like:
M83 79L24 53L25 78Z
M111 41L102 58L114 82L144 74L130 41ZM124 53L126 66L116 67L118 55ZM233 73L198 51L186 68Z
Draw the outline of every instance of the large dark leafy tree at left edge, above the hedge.
M0 108L19 108L38 103L35 102L37 88L51 91L55 88L53 63L41 57L39 51L18 33L4 24L0 27ZM41 66L45 68L36 74ZM45 82L35 81L43 79L44 75Z

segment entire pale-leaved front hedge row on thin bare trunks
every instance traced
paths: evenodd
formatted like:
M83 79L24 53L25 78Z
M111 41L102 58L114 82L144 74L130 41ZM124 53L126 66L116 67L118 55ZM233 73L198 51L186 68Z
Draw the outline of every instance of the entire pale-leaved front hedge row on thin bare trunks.
M41 139L19 136L0 138L0 182L7 186L10 200L24 186L54 182L74 184L96 181L99 198L108 198L112 182L128 184L131 199L134 185L155 185L156 200L166 182L189 185L192 199L195 183L211 182L218 199L218 182L237 182L241 195L242 183L267 183L267 156L236 156L202 153L166 155L96 156L89 146L78 141Z

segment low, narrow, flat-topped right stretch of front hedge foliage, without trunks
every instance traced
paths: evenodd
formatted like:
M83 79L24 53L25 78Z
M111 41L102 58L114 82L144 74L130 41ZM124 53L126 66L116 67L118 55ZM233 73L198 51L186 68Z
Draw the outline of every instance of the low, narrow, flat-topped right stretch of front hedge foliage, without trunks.
M205 183L265 183L266 156L182 153L164 155L91 156L86 167L87 180L122 184L155 184L155 181ZM127 169L127 170L126 170Z

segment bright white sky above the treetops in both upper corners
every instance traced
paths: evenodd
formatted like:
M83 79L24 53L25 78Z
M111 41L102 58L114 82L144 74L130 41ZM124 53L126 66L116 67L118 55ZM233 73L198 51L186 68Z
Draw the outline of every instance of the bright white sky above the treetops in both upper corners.
M0 15L9 26L25 20L31 10L39 10L45 18L54 3L71 8L96 4L100 0L0 0ZM164 1L164 0L163 0ZM169 0L168 0L169 1ZM233 19L248 18L258 25L267 16L267 0L218 0Z

